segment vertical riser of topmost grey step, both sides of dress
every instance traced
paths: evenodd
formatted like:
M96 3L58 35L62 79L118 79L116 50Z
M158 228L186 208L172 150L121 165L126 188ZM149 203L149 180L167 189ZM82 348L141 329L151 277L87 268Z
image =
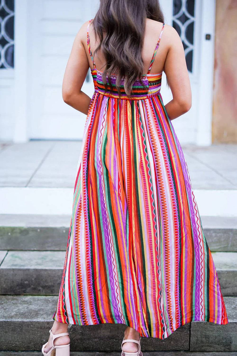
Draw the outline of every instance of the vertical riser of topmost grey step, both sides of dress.
M237 229L204 228L211 251L237 252ZM0 250L65 251L68 227L0 227Z

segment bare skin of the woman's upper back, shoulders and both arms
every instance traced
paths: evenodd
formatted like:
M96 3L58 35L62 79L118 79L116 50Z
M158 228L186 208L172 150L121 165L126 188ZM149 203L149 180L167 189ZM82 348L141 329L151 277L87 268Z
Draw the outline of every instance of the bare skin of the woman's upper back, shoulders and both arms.
M88 113L88 106L91 104L91 99L81 92L79 95L83 97L83 100L74 100L74 93L82 87L87 75L88 67L91 70L97 69L101 76L101 81L103 77L102 73L104 73L107 63L102 47L99 49L97 48L102 39L98 36L98 33L95 33L93 26L89 25L90 21L87 21L82 25L75 38L63 80L64 101L85 114ZM192 101L191 88L181 39L173 27L165 25L163 31L162 27L162 22L154 21L149 18L146 18L145 20L144 42L143 46L140 48L141 60L143 62L142 75L144 77L147 72L149 72L149 65L151 64L152 56L161 34L162 39L160 40L159 48L152 63L152 67L150 68L150 74L159 74L160 76L159 78L156 78L156 84L153 85L153 92L155 91L158 95L160 91L156 90L155 85L158 85L159 87L161 86L162 71L165 72L173 95L173 99L166 104L166 111L169 112L169 119L173 120L190 109ZM93 65L90 52L88 51L88 35L90 37L91 54L95 57L93 58L95 65ZM105 32L103 32L103 37L104 36L106 36ZM97 52L94 55L96 48ZM138 48L136 48L136 50L138 50ZM121 61L121 63L123 64L123 61ZM135 64L136 62L134 62L134 66ZM95 72L92 74L96 88ZM157 84L158 81L160 81L159 84ZM150 83L151 82L152 79L150 80ZM144 85L147 86L147 82L144 83Z

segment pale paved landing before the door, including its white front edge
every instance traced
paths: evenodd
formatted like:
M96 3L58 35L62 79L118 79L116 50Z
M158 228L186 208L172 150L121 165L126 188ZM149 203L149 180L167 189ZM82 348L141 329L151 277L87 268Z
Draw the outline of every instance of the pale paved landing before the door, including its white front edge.
M70 215L81 141L1 144L0 214ZM237 145L183 145L203 216L237 216Z

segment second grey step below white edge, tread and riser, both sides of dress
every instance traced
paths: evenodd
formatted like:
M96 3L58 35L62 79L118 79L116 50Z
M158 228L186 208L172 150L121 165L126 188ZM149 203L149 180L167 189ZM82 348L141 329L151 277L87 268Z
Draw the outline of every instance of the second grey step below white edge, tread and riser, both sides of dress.
M237 252L212 256L222 294L237 296ZM0 251L0 294L58 295L64 259L65 251Z

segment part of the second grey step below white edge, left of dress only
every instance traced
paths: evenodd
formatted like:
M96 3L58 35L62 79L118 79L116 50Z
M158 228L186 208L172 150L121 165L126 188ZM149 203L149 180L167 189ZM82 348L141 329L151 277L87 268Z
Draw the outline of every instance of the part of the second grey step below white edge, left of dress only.
M0 294L57 295L65 253L2 251L4 258L0 265Z

